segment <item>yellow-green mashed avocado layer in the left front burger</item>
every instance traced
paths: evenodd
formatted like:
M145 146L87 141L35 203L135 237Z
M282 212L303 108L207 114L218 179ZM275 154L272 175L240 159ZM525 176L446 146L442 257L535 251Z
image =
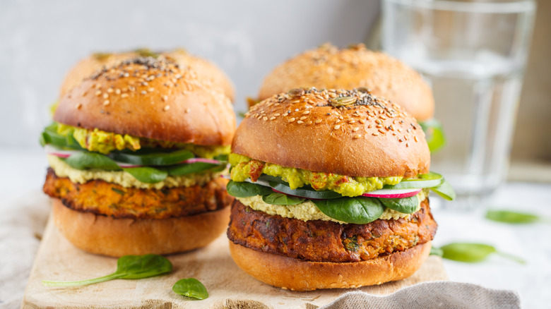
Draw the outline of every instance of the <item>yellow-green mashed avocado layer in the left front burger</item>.
M220 154L229 154L230 146L201 146L186 143L168 142L164 140L153 140L150 138L138 138L128 134L117 134L101 131L97 128L88 130L76 128L62 123L57 125L57 133L60 135L72 134L73 138L81 147L93 152L108 154L114 150L139 150L142 147L160 147L184 149L193 152L197 157L213 159Z

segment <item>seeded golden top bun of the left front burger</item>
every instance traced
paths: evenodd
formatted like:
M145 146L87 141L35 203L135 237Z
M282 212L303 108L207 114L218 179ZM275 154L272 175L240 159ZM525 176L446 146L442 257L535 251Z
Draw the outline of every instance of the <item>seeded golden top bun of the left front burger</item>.
M61 97L54 121L79 128L197 145L230 145L232 104L167 59L124 60Z

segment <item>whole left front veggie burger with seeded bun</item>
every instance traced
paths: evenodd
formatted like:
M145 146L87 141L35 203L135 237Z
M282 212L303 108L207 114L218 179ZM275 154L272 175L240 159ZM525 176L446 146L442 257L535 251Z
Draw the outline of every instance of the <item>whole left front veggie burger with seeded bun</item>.
M230 99L165 56L122 59L62 92L41 142L59 231L103 255L206 246L227 226ZM73 78L74 80L74 78Z

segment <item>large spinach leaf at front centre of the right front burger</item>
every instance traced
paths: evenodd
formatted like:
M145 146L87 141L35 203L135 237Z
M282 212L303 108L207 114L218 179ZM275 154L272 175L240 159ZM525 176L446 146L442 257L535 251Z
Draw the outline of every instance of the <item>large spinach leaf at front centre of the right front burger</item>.
M312 200L328 217L354 224L373 222L384 212L384 206L377 198L333 198L330 200Z

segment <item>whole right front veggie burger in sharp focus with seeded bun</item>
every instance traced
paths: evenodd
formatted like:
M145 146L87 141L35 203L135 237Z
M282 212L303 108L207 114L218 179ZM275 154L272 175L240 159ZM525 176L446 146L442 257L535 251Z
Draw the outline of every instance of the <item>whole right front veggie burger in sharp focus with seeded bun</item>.
M365 88L295 88L251 107L230 154L230 252L245 272L296 291L409 277L437 230L419 124Z

